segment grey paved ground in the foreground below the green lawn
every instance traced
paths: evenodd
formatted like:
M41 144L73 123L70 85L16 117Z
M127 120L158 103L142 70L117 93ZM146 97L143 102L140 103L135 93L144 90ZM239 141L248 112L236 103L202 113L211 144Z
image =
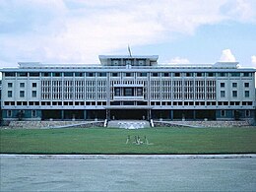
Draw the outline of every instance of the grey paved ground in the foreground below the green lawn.
M256 159L0 158L0 191L253 191Z

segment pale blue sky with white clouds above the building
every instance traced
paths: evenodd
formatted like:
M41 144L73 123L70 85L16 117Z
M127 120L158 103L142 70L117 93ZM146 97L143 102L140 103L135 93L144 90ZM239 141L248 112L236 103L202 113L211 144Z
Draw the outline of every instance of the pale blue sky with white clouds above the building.
M0 0L0 68L18 62L237 61L256 67L256 0Z

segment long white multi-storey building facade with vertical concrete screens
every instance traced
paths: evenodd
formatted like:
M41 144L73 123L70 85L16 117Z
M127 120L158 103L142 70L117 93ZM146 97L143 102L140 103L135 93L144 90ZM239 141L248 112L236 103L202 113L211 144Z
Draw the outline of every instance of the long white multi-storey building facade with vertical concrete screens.
M163 65L158 56L99 56L100 65L3 68L4 120L209 119L255 116L255 69L237 62Z

